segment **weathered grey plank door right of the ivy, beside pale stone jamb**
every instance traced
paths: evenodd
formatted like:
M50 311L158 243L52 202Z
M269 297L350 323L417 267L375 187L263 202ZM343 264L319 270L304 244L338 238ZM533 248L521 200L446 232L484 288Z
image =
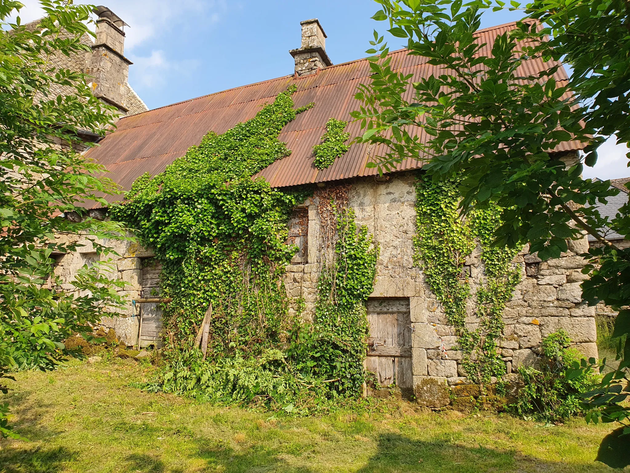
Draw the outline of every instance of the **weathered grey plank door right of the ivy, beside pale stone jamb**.
M409 299L367 300L367 370L381 386L413 388Z

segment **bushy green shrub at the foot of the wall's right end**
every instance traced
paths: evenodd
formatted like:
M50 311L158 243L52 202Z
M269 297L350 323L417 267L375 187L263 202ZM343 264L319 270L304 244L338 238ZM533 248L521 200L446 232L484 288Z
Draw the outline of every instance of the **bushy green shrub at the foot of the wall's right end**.
M569 347L570 343L565 330L553 332L542 339L540 369L518 368L525 385L518 391L517 402L510 406L513 412L544 422L561 422L584 412L581 394L598 377L590 369L576 377L567 376L567 368L581 358L578 351Z

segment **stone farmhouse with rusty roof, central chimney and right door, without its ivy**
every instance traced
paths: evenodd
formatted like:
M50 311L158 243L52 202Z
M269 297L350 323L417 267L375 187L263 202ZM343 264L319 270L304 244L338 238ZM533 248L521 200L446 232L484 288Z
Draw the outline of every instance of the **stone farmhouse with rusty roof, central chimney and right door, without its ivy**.
M294 73L277 79L214 93L149 112L130 115L118 122L117 131L108 134L101 146L89 156L105 165L111 177L123 189L129 189L142 173L162 172L175 158L185 155L189 146L200 143L212 130L225 132L238 122L251 119L261 105L272 102L289 85L297 86L293 98L296 107L309 102L316 105L287 124L280 141L292 154L275 161L256 177L263 177L273 187L287 188L312 184L316 192L304 205L294 210L290 238L300 250L287 267L285 283L292 310L297 301L306 303L304 317L312 317L316 285L321 271L323 235L318 206L331 190L339 186L347 192L348 206L355 211L357 223L366 225L379 243L377 281L367 302L370 321L367 368L374 371L382 385L396 382L403 389L415 388L426 406L448 404L448 397L436 394L436 387L465 382L454 347L457 337L447 324L445 313L424 281L423 272L413 262L413 236L416 233L415 174L421 163L412 158L398 165L395 172L382 177L365 167L379 150L354 144L333 165L318 170L312 164L312 146L320 143L330 118L348 120L357 108L353 98L357 85L367 81L370 68L365 59L332 65L326 55L326 34L318 20L302 21L302 47L290 51L295 59ZM478 32L486 44L512 29L514 23ZM486 52L489 54L489 51ZM432 66L406 50L391 52L392 68L405 73L428 75ZM533 65L536 67L536 64ZM542 67L542 64L538 65ZM548 67L548 65L547 65ZM566 81L559 68L557 80ZM355 135L358 124L347 131ZM567 159L576 156L579 144L569 143L559 149ZM121 199L113 197L112 200ZM139 342L138 308L142 307L143 327L140 345L159 343L159 262L150 248L138 243L116 243L121 255L119 276L131 283L130 303L124 313L103 318L103 324L116 330L118 337L131 346ZM522 275L512 300L505 310L505 333L501 355L507 373L518 366L536 362L541 338L559 328L566 329L576 347L588 356L597 356L595 310L581 303L578 256L588 248L586 239L570 242L570 251L561 258L541 262L524 248L514 264ZM77 254L60 258L58 274L72 277L96 254L88 245ZM473 286L483 278L479 252L466 262ZM131 302L135 301L135 304ZM469 320L475 324L474 318ZM424 391L423 391L424 389Z

